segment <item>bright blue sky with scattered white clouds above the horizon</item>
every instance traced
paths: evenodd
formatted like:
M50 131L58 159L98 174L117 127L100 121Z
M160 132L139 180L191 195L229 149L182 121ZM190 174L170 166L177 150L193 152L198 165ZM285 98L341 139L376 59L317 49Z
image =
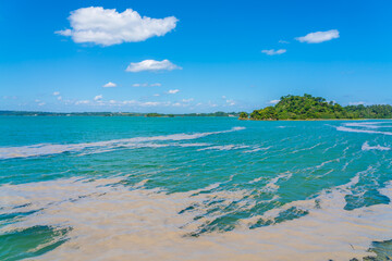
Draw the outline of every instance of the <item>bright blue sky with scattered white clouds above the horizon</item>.
M390 10L389 0L2 1L0 110L252 111L304 92L392 104Z

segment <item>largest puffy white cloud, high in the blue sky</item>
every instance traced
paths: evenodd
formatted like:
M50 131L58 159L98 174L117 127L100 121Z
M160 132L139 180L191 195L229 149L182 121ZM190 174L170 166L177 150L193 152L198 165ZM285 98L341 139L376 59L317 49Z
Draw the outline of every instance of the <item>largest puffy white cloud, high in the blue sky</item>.
M58 30L56 34L70 36L75 42L111 46L163 36L175 28L177 18L142 17L132 9L119 13L115 9L90 7L71 12L69 21L71 29Z

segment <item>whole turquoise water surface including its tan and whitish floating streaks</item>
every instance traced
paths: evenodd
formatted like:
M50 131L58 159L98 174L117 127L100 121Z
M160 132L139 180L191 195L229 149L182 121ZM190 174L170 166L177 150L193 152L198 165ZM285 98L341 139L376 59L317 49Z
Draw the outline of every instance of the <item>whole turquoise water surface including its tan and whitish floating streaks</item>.
M0 130L0 260L390 251L392 121L4 116Z

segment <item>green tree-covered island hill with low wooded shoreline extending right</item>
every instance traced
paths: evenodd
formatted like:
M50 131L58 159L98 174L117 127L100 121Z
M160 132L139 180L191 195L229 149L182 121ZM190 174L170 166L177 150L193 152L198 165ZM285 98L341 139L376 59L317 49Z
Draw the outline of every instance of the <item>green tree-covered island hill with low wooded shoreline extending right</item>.
M242 114L240 119L247 119ZM250 120L392 119L391 105L341 107L321 97L283 96L274 107L255 110Z

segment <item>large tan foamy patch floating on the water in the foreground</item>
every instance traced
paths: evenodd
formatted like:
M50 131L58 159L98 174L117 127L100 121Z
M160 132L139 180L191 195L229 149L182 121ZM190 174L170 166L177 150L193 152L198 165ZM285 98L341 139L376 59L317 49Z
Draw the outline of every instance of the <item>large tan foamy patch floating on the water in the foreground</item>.
M262 216L273 217L295 206L309 211L301 219L249 229L248 224L261 217L254 216L234 231L199 237L184 235L205 220L196 222L199 213L179 214L181 210L211 197L232 201L246 191L169 195L145 189L143 184L131 189L109 186L117 182L72 178L2 186L2 211L23 203L32 203L24 210L44 210L1 232L34 225L73 227L70 240L34 260L350 260L369 256L366 250L372 240L392 238L390 204L343 210L344 196L350 192L346 188L357 182L355 178L316 199L294 201ZM390 187L381 192L392 197Z

